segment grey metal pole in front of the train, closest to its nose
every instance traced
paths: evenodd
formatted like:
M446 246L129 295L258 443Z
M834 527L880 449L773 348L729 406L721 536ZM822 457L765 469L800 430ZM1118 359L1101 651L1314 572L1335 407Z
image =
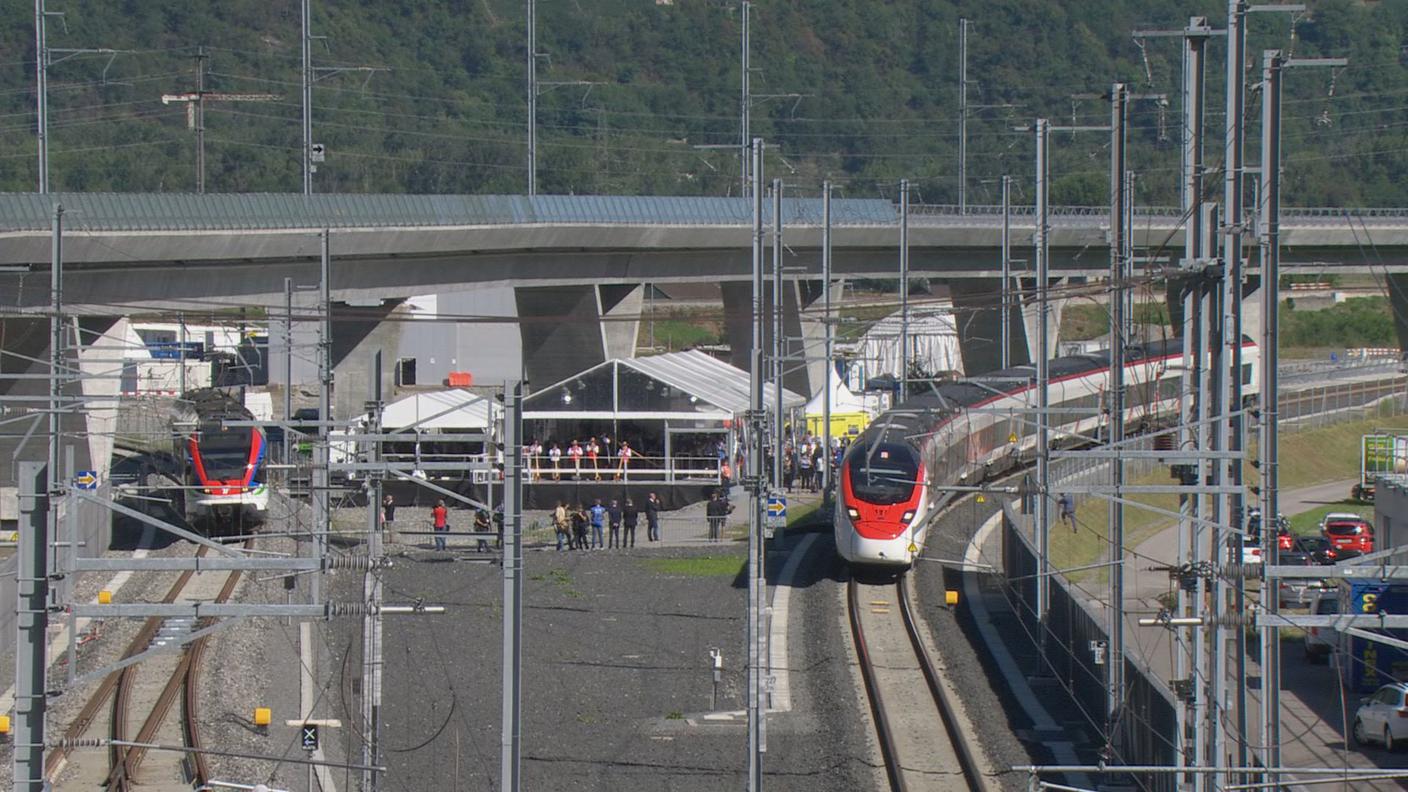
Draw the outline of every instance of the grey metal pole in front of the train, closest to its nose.
M1050 437L1046 410L1050 407L1050 351L1048 349L1048 189L1049 189L1050 121L1036 120L1036 619L1039 623L1038 651L1042 655L1041 674L1046 674L1046 616L1050 607Z

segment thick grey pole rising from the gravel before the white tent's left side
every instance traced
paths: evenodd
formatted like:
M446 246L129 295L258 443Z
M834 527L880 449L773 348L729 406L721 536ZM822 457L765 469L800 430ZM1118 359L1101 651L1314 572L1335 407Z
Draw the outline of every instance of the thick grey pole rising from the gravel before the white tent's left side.
M522 382L504 386L504 707L500 754L503 792L522 785Z

